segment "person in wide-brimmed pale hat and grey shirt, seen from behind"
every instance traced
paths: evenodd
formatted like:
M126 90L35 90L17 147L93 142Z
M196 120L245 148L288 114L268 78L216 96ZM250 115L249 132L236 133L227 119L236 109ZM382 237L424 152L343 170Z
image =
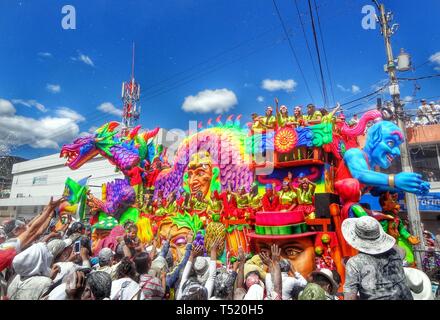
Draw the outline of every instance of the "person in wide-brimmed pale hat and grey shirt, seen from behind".
M356 300L358 295L361 300L413 300L403 270L404 253L376 219L345 219L342 234L359 251L345 267L345 300Z

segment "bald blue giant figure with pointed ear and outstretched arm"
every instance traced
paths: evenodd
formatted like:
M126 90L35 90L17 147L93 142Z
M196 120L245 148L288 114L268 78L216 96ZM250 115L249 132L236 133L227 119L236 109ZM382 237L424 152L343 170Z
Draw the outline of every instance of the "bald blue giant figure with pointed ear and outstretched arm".
M388 175L374 170L375 167L388 169L394 158L400 156L399 146L403 141L402 131L394 123L381 121L374 124L368 130L362 150L353 148L345 152L336 172L336 181L355 178L363 189L369 187L375 194L384 191L428 193L430 185L418 173L400 172Z

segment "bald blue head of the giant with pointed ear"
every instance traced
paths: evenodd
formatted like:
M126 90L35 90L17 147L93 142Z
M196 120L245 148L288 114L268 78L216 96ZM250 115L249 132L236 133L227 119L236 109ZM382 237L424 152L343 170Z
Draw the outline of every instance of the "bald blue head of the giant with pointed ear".
M400 156L399 146L403 142L403 135L394 123L383 121L374 125L370 128L367 139L367 150L372 164L387 169L394 158Z

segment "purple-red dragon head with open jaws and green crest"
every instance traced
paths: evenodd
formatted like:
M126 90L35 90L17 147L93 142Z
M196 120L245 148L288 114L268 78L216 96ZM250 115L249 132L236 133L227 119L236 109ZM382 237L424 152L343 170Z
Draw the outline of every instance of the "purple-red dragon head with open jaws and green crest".
M118 122L106 123L94 134L77 138L71 144L65 144L61 148L60 157L66 158L66 165L76 170L98 154L111 156L110 148L117 144L113 137L117 133L114 129L118 125Z

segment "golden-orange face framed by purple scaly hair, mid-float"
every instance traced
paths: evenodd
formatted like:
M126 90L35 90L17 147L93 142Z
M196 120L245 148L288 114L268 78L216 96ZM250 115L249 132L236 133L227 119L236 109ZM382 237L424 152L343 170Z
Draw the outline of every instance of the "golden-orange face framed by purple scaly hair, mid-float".
M200 191L205 198L210 190L213 178L211 156L207 151L194 154L188 164L187 183L192 196Z

